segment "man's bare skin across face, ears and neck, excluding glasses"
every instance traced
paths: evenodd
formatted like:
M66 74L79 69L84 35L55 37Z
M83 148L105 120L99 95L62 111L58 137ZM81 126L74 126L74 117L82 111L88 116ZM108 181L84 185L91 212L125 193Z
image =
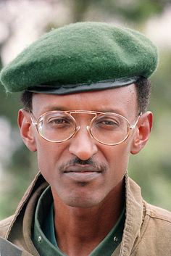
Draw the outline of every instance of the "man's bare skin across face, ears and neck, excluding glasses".
M64 96L33 95L33 114L60 110L111 111L134 124L138 117L135 85L105 91L93 91ZM124 204L125 172L130 154L137 154L149 139L151 112L144 113L130 136L122 144L107 146L92 139L86 125L89 115L76 117L80 131L63 143L44 140L32 125L30 115L20 110L18 123L28 149L38 154L38 166L51 186L54 198L54 223L59 248L69 256L87 256L104 239L120 216ZM75 157L93 160L91 164L72 165ZM80 170L69 175L66 170ZM103 169L102 166L105 166Z

